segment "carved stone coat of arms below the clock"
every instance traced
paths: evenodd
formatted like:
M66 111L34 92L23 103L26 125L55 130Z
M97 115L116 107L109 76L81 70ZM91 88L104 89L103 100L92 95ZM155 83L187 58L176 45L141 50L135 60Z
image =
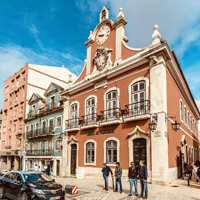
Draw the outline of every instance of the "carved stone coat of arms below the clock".
M108 51L106 50L106 48L97 48L97 53L93 59L94 65L96 66L97 70L102 71L106 67L108 57Z

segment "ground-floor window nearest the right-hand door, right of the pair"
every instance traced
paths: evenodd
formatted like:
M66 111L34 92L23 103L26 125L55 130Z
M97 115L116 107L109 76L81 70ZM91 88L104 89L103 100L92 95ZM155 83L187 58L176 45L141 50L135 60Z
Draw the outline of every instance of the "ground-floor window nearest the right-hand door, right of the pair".
M114 140L110 140L106 143L106 162L117 162L117 142Z

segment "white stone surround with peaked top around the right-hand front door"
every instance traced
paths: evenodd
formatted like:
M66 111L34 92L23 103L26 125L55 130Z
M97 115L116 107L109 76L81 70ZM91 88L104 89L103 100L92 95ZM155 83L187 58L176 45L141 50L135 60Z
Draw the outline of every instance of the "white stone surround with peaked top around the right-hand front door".
M146 155L147 155L147 170L148 176L150 176L150 137L148 137L149 133L143 131L139 126L136 126L135 129L128 134L128 148L129 148L129 163L133 162L133 141L136 139L143 138L146 140Z

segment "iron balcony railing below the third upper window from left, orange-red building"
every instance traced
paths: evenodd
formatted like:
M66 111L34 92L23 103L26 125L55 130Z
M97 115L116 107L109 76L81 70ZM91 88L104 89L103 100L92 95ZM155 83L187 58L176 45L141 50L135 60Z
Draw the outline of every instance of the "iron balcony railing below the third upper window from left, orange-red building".
M117 107L100 111L100 115L97 115L97 120L100 122L109 122L119 119L120 119L120 108Z

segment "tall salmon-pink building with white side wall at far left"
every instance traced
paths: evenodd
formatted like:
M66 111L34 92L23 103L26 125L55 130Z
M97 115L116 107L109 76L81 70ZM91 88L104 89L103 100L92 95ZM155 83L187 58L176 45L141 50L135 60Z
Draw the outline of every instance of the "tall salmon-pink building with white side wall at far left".
M20 168L19 151L24 151L28 101L35 92L42 96L51 82L65 87L71 73L64 67L27 63L4 83L0 156L2 170ZM72 75L72 79L75 77Z

